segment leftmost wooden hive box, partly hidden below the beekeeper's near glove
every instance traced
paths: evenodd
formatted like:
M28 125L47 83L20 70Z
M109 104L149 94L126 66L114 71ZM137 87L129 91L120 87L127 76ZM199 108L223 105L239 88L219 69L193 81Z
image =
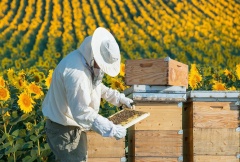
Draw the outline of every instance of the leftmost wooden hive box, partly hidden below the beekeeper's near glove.
M93 131L87 132L88 162L124 162L125 139L102 137Z

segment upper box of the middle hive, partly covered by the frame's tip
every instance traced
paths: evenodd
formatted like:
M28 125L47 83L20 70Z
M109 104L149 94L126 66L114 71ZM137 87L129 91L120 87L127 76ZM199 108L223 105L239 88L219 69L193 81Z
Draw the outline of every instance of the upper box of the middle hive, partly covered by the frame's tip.
M150 116L135 124L135 130L181 130L182 108L177 103L137 103L135 109Z

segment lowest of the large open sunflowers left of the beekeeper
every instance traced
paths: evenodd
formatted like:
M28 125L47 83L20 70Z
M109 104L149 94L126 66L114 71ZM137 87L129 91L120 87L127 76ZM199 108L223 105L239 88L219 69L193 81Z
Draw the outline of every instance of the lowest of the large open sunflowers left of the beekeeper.
M20 109L24 112L24 113L29 113L32 111L33 109L33 104L35 103L33 101L33 99L31 98L30 94L28 94L26 91L22 92L19 96L18 96L18 105L20 107Z

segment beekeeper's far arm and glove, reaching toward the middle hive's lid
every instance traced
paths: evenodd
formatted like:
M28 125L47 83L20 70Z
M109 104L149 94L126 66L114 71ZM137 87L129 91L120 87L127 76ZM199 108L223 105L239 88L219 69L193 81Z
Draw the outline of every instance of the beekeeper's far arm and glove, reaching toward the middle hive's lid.
M106 87L101 83L101 95L106 101L110 102L115 106L126 105L128 108L132 108L131 103L133 100L126 97L125 94L120 93L117 90Z

